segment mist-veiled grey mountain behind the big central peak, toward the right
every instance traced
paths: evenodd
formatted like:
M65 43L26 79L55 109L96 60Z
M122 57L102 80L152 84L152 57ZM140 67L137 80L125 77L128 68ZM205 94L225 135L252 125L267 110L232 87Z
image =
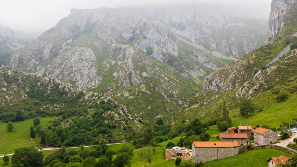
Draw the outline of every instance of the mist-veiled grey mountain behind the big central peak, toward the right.
M230 14L226 7L184 4L138 11L175 34L227 57L242 57L267 42L266 19Z

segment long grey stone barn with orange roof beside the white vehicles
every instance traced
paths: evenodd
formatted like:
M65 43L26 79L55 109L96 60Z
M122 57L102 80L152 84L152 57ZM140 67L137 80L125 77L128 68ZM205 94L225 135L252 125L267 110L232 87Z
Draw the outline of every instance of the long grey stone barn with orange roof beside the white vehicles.
M194 141L192 156L195 163L205 163L237 155L239 145L235 141Z

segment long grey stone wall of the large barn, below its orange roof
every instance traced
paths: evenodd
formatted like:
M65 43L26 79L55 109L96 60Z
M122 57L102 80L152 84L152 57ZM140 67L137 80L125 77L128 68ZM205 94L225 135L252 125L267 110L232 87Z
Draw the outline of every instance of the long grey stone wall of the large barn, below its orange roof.
M237 155L239 147L227 147L227 148L195 148L193 154L195 163L205 163L212 160L221 158L227 158Z

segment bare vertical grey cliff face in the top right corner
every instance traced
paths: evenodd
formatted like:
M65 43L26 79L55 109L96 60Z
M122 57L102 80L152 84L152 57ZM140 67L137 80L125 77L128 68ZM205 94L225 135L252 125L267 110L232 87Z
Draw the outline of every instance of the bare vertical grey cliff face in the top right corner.
M273 0L271 1L271 12L269 15L269 39L276 37L282 31L283 18L286 10L293 0Z

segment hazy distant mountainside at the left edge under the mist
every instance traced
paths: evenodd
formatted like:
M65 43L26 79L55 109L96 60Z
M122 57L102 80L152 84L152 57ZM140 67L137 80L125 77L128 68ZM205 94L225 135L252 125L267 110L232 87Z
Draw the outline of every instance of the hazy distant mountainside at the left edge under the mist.
M29 42L31 39L26 35L0 25L0 64L7 64L13 52Z

